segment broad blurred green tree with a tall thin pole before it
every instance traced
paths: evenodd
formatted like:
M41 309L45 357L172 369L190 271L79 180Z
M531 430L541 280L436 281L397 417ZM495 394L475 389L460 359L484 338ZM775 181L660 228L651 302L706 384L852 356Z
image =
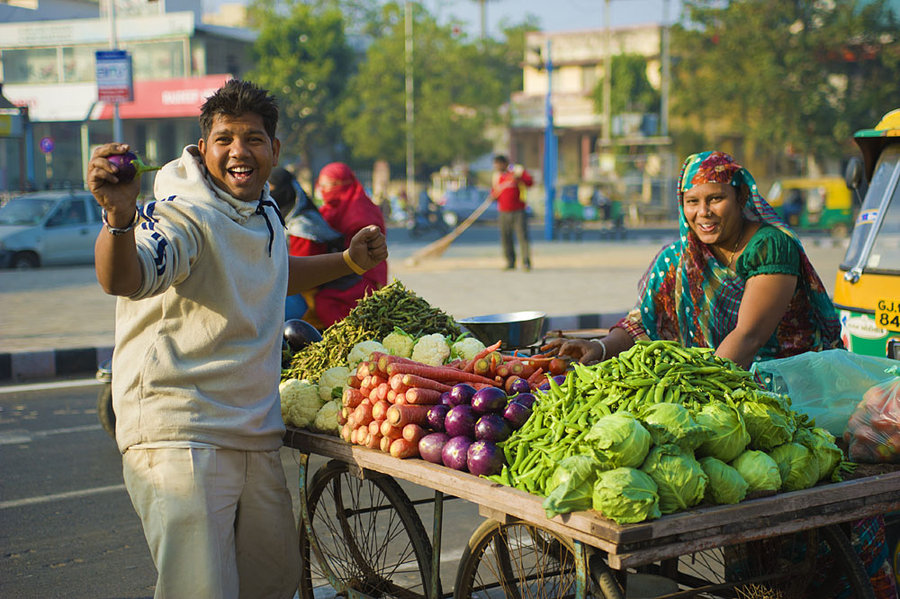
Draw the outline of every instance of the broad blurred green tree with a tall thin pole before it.
M499 52L483 53L452 25L440 25L421 5L413 10L416 164L420 173L490 150L484 137L509 99L509 74ZM350 79L337 119L354 158L406 160L405 30L403 8L384 5L374 39Z

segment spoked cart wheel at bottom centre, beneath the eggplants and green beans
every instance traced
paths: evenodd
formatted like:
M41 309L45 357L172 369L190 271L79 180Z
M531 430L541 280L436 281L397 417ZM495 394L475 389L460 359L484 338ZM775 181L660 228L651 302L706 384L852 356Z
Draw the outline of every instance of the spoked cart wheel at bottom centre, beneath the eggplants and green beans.
M576 567L572 542L565 537L526 522L485 520L463 550L453 596L576 597L576 572L586 568L586 563Z

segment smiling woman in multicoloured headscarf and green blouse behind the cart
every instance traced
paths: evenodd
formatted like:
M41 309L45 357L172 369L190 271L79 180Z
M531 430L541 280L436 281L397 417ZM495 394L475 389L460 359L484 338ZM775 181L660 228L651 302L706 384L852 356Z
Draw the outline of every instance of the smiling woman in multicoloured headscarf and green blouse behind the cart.
M723 152L689 156L678 181L679 239L638 284L638 305L602 339L554 339L548 349L583 363L636 340L714 348L744 368L759 360L842 347L834 306L796 234ZM879 599L896 597L884 519L855 522L851 542ZM821 589L824 597L846 589Z

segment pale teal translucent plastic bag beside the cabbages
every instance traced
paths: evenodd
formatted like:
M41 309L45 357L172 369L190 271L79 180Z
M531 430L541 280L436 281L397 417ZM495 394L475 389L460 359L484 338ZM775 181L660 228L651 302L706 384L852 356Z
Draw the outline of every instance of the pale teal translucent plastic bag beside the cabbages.
M757 362L751 372L769 391L790 396L794 411L809 415L816 426L840 437L866 390L881 382L885 370L896 364L888 358L829 349Z

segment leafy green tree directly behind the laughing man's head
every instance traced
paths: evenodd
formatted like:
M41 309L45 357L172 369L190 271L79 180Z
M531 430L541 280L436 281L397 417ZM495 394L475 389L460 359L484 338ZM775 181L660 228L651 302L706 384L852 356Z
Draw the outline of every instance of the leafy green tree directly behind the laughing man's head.
M250 76L278 98L282 152L311 164L312 148L338 138L332 110L353 70L342 13L302 0L254 0L250 19L259 32Z

